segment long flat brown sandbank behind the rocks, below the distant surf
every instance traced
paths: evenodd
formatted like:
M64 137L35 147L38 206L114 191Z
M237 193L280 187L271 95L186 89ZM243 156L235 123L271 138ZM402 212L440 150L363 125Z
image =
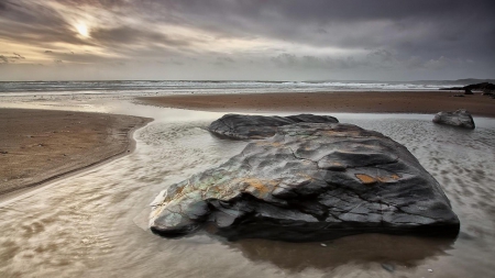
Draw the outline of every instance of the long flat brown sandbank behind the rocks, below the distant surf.
M250 94L180 94L138 98L139 103L216 112L437 113L468 109L495 116L495 99L459 91L334 91Z

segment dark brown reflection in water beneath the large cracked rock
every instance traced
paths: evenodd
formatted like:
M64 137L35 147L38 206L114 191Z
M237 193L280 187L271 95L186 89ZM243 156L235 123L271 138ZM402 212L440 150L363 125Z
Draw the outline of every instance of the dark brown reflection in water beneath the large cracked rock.
M430 257L446 255L454 240L384 234L362 234L320 243L285 243L242 240L228 243L253 262L267 262L283 269L299 271L307 267L333 269L355 263L392 264L413 267Z

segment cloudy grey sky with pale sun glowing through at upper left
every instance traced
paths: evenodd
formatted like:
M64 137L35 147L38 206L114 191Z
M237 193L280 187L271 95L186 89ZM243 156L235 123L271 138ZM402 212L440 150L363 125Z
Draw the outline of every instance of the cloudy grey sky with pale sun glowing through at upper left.
M0 0L0 81L495 78L494 0Z

